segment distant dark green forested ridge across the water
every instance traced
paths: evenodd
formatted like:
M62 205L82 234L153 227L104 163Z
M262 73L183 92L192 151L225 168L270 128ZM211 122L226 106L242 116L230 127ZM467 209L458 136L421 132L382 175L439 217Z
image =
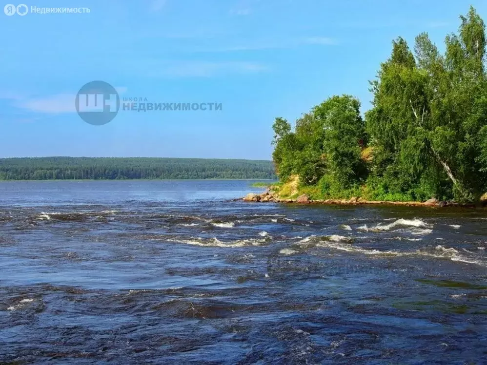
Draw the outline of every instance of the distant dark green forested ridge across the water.
M271 161L203 158L35 157L0 159L0 180L272 179Z

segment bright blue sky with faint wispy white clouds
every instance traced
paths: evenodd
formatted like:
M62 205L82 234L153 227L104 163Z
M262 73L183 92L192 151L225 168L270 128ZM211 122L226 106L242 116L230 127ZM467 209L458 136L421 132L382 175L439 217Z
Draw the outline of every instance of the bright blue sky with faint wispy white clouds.
M271 159L275 117L293 123L341 94L369 109L369 80L393 39L412 47L427 32L443 50L470 4L487 20L482 0L25 1L24 16L0 13L0 157ZM93 80L121 99L222 110L121 108L91 125L75 97Z

